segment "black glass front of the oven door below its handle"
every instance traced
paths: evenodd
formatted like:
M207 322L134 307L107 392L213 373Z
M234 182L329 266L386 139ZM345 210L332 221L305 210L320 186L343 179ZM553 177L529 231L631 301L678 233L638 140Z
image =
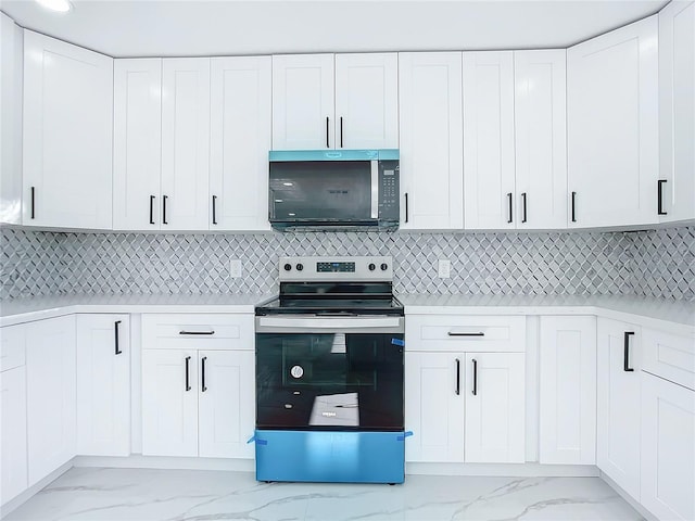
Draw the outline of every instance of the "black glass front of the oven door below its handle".
M396 333L257 333L258 429L403 430Z

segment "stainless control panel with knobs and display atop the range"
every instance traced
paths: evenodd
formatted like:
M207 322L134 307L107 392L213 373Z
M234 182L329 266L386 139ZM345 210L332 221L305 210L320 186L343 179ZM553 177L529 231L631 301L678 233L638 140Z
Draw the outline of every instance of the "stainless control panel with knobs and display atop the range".
M280 257L280 280L305 281L391 281L393 258L375 255L359 257Z

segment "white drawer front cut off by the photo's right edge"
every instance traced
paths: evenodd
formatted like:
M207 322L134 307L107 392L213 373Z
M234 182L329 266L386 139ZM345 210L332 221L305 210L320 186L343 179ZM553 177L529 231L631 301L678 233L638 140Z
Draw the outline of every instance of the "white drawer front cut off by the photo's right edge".
M643 328L642 369L695 390L695 338Z

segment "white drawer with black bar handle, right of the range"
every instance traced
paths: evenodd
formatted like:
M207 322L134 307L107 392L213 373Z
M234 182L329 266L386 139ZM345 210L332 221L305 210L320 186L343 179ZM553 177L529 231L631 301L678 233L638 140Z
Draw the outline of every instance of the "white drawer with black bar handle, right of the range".
M406 351L525 352L526 317L412 315Z

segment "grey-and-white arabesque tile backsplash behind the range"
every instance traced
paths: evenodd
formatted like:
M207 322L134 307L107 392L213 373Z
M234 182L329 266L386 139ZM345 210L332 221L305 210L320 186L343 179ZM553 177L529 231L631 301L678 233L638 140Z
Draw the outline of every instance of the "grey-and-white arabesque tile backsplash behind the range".
M392 255L397 293L695 300L695 227L637 233L58 233L2 229L0 297L274 293L282 255ZM229 277L240 258L242 277ZM440 258L452 277L439 279Z

